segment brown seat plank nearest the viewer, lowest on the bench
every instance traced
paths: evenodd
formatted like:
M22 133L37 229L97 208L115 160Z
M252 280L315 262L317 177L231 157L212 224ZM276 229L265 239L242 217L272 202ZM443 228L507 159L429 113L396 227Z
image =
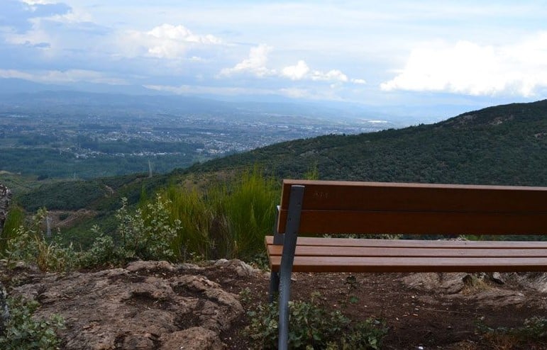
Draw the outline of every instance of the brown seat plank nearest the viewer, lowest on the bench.
M270 267L279 271L280 256ZM295 256L294 272L526 272L547 271L547 258L424 258Z

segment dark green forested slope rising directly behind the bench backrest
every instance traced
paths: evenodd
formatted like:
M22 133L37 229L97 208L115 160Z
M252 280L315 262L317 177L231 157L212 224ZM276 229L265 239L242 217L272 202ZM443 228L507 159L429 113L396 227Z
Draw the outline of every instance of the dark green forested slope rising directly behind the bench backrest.
M263 164L279 177L316 166L321 179L547 185L547 100L513 103L432 125L283 142L184 173Z

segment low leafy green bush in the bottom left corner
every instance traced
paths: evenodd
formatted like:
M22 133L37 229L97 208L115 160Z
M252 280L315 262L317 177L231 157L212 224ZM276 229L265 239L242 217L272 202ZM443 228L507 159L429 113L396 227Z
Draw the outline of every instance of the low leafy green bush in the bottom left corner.
M4 350L56 350L61 341L57 330L65 328L65 321L60 315L52 315L48 319L33 317L38 309L35 300L26 301L22 298L8 298L10 310L6 331L0 336L0 349Z

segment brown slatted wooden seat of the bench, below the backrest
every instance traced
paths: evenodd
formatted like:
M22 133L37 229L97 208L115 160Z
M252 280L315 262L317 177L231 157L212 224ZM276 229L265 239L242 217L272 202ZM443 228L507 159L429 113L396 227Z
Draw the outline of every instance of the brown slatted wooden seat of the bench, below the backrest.
M266 237L270 269L283 246ZM426 241L298 237L294 272L545 271L547 242Z

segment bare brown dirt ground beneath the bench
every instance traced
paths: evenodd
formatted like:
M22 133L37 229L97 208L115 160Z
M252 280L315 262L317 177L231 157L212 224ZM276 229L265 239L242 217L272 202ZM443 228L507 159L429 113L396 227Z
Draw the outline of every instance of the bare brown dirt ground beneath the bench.
M208 278L233 293L250 288L251 303L267 300L264 278L237 280L211 272ZM433 281L431 275L436 275ZM382 349L547 349L547 339L541 344L520 346L512 346L510 339L485 339L476 325L480 320L492 328L521 327L526 318L547 317L547 293L523 290L518 283L510 281L511 278L502 286L487 281L467 287L455 282L465 273L444 274L448 281L440 283L437 276L433 273L295 273L292 299L309 300L311 293L319 291L324 307L341 310L351 320L368 317L387 320L389 334ZM355 297L357 303L344 307L348 295ZM245 309L249 306L243 305ZM250 348L248 339L240 333L247 323L248 320L242 318L230 332L222 334L229 349Z

